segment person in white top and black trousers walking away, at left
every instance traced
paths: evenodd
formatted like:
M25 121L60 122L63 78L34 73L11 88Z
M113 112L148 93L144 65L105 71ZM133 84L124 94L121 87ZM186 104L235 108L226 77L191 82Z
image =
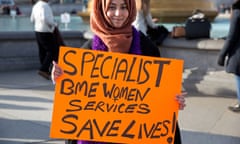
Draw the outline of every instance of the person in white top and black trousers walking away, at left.
M54 21L52 9L48 4L49 0L38 0L34 4L30 20L34 23L34 31L39 50L40 69L38 74L50 79L50 67L52 61L58 59L58 45L54 35L57 23Z

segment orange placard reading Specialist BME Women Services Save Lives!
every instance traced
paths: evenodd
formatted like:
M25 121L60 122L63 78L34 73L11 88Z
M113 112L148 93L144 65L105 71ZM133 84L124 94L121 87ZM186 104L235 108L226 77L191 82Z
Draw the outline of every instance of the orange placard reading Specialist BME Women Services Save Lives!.
M50 137L173 144L183 60L61 47Z

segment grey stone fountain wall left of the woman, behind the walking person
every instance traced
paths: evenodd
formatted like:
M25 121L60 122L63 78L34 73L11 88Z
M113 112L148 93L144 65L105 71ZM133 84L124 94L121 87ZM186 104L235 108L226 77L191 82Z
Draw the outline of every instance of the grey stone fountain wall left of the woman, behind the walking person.
M62 32L68 46L80 47L84 39L80 32ZM34 32L0 33L0 72L39 68L38 46Z

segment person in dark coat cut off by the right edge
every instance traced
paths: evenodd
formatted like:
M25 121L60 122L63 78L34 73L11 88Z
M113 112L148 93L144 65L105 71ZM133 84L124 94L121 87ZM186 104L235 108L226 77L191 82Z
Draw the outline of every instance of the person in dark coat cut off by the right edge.
M237 104L229 106L233 112L240 112L240 0L232 5L230 30L219 54L218 64L226 66L227 73L233 73L237 83Z

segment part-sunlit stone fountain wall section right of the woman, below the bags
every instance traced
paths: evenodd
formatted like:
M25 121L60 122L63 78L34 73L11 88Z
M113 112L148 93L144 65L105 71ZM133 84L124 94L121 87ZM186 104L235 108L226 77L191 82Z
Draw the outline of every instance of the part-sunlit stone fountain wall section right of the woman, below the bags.
M183 89L194 95L235 96L234 75L217 64L224 40L168 38L160 46L163 57L184 60Z

